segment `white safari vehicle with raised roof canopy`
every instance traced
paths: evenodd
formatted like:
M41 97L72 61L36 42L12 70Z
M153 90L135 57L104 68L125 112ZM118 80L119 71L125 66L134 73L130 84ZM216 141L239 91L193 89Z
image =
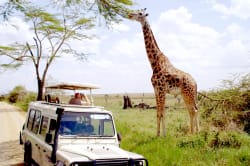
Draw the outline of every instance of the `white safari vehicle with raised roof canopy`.
M96 86L57 84L50 89L91 90ZM90 93L90 96L92 94ZM58 99L58 98L57 98ZM26 165L147 166L147 160L119 147L110 111L90 104L31 102L20 132Z

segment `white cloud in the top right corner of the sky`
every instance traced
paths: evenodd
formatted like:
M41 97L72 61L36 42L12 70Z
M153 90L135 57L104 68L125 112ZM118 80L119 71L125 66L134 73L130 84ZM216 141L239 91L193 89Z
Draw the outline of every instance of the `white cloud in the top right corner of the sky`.
M231 0L229 5L222 4L216 0L209 1L215 11L222 13L224 16L235 16L241 19L250 18L250 1L249 0Z

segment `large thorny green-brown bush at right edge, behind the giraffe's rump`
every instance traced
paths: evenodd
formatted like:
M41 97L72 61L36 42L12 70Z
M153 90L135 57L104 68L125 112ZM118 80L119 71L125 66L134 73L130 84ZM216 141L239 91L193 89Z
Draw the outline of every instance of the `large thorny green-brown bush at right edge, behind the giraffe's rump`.
M223 80L217 90L199 94L201 116L213 126L230 128L236 124L250 133L250 73Z

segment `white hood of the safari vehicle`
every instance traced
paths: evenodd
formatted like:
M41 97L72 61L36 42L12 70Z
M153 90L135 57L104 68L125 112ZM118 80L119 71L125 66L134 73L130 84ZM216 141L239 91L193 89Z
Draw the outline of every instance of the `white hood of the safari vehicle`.
M115 159L115 158L142 158L141 155L127 152L115 145L63 145L60 151L81 155L90 160Z

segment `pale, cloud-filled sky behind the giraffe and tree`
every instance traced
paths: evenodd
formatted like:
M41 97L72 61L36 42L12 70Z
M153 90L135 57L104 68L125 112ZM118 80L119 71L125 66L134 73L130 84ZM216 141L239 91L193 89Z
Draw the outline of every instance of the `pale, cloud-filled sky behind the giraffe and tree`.
M1 1L0 1L1 2ZM249 0L136 0L135 9L147 8L148 21L162 52L173 65L190 73L199 90L218 88L232 74L250 72ZM13 18L18 31L0 25L1 45L26 42L28 25ZM73 57L57 59L48 83L85 82L101 86L97 93L153 92L141 25L124 20L113 29L92 30L98 38L72 46L94 53L85 62ZM0 93L16 85L36 91L32 64L0 73Z

